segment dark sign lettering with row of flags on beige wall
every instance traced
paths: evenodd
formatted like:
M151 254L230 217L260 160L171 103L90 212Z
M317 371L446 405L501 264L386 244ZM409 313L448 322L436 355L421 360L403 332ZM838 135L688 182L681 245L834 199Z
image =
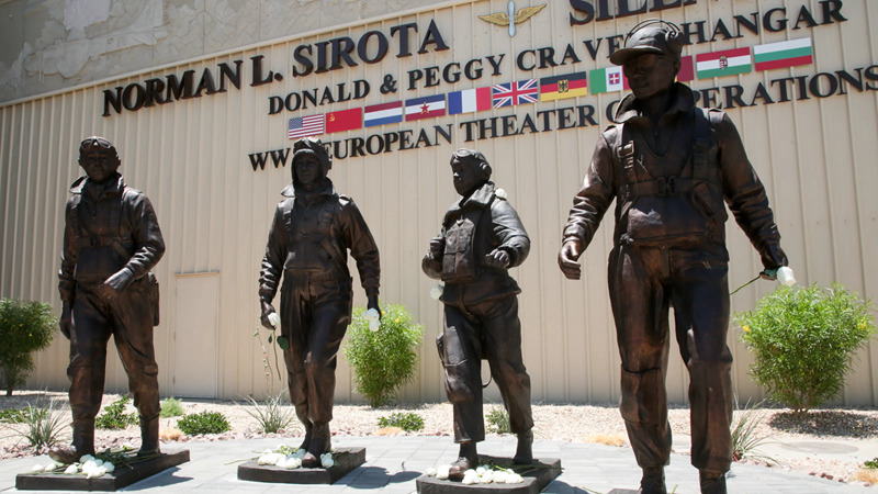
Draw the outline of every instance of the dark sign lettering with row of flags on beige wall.
M651 12L657 15L667 9L697 4L698 0L569 0L564 14L570 29L576 30L593 22ZM477 16L493 29L508 31L513 37L516 29L540 15L553 14L547 7L548 3L517 5L510 0L506 11ZM845 22L843 8L843 0L821 0L814 7L777 7L731 19L682 23L691 55L680 60L678 80L709 80L710 87L700 83L693 87L698 104L720 109L878 90L878 65L875 64L833 72L776 77L767 79L767 83L758 81L750 87L722 83L721 78L725 76L812 65L814 46L810 30ZM759 44L763 33L776 32L795 34L787 41ZM482 54L441 65L419 63L421 56L429 55L427 59L432 60L434 54L450 49L446 40L451 38L443 35L435 19L393 25L385 31L317 40L292 49L292 59L285 69L269 67L264 57L257 55L248 60L206 67L200 74L187 70L182 75L171 74L108 89L103 91L103 115L221 94L233 88L243 90L244 85L272 88L282 86L285 78L294 78L301 81L300 88L308 82L314 85L309 89L268 96L262 111L269 117L284 117L282 125L288 138L325 135L322 138L333 156L347 159L451 144L454 139L470 143L599 125L605 119L612 120L621 91L628 89L621 69L607 60L622 47L624 34ZM753 43L746 43L747 40ZM722 42L729 41L734 41L733 47L722 46ZM320 83L329 79L324 75L360 65L378 65L390 55L397 59L394 67L408 60L412 67L384 74L375 80L359 78ZM579 68L584 64L597 67ZM532 76L511 80L513 72ZM618 92L619 99L604 108L596 108L596 100L588 101L588 97L612 92ZM367 98L373 104L364 104ZM380 102L374 103L376 99ZM564 99L570 99L571 103L559 101ZM552 102L552 106L541 104L545 102ZM479 112L491 113L466 115ZM463 115L458 116L457 128L454 124L442 122L453 115ZM413 123L421 127L405 128ZM360 130L364 130L363 135L333 138L335 133ZM248 154L254 170L264 169L267 165L285 166L289 157L289 147Z

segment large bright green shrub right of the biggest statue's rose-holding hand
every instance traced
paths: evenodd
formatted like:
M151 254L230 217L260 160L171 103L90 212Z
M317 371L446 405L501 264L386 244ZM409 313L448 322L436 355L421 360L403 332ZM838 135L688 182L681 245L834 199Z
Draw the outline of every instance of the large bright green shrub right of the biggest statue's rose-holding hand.
M781 287L735 315L750 367L769 396L797 414L835 398L857 350L875 333L871 303L841 284Z

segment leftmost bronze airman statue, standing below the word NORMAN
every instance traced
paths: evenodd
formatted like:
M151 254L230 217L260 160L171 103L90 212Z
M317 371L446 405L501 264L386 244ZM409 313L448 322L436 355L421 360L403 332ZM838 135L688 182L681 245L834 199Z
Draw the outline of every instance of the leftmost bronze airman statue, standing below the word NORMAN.
M139 454L159 450L158 366L153 326L158 321L158 283L149 272L165 240L149 199L125 186L113 145L88 137L79 146L86 170L70 187L58 273L64 308L61 333L70 340L71 449L53 458L66 463L94 453L94 417L103 398L106 344L116 344L128 389L140 415Z

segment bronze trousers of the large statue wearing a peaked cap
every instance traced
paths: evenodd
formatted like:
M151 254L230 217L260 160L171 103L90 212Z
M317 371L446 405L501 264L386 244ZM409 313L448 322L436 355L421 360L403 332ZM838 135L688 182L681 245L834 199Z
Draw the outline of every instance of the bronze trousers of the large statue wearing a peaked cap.
M638 464L663 467L671 454L665 373L668 308L689 370L691 463L728 471L732 460L732 355L728 251L617 246L610 254L609 291L621 369L621 414Z

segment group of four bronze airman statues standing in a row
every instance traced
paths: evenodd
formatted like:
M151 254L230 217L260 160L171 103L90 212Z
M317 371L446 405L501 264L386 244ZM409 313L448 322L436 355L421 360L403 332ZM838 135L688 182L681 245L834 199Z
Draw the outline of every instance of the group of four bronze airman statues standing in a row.
M618 105L616 124L600 134L573 200L558 262L581 277L578 259L616 202L609 293L621 357L621 405L629 440L642 468L641 492L664 493L671 452L665 373L668 308L689 370L691 462L701 492L725 492L732 460L729 254L725 206L762 256L766 271L787 265L765 189L747 160L734 124L719 110L695 105L675 82L683 37L664 21L645 21L610 57L632 93ZM292 182L274 212L259 277L262 325L273 329L272 301L280 288L280 332L290 398L304 425L304 467L319 467L330 450L337 353L351 321L357 262L368 306L379 308L379 249L353 201L327 177L331 158L314 138L294 146ZM158 285L149 270L165 244L149 200L126 187L115 148L85 139L67 203L59 290L60 326L70 340L72 445L56 452L94 452L94 418L104 385L106 344L114 336L140 416L142 453L158 441L158 369L153 326ZM521 358L520 289L509 268L528 256L530 239L502 189L491 181L482 153L451 156L460 198L429 243L424 272L444 283L444 328L437 344L453 405L459 459L450 478L479 464L484 440L481 361L487 360L518 437L515 463L533 460L530 377ZM380 311L379 311L380 313ZM272 317L273 316L273 317ZM585 418L585 417L584 417Z

